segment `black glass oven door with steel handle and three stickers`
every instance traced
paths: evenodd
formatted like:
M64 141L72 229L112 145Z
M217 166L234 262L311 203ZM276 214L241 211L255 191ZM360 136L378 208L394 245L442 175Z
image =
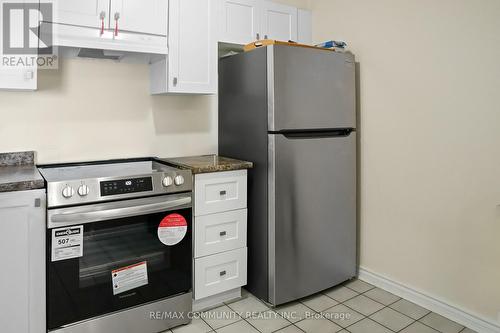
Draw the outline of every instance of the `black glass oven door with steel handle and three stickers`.
M191 193L49 210L48 329L190 291L191 231Z

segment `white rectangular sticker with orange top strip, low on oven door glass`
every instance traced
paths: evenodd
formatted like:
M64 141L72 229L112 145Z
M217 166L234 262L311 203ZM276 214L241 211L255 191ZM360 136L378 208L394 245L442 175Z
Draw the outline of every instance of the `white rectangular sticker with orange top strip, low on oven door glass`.
M145 261L111 271L113 295L148 284L148 267Z

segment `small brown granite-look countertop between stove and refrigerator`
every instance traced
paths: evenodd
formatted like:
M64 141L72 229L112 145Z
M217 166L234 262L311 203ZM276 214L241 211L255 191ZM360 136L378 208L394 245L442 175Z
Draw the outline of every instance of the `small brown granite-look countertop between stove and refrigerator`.
M179 168L189 169L193 174L253 168L252 162L217 155L162 158L160 160Z

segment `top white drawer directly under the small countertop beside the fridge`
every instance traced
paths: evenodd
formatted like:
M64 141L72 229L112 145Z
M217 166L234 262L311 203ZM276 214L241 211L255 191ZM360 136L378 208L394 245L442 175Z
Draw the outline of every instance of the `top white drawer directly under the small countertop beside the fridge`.
M247 170L195 176L195 216L247 207Z

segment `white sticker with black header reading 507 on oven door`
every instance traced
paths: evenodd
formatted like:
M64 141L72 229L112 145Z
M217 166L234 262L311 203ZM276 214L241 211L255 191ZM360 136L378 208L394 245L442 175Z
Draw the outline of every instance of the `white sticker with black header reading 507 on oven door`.
M83 225L52 229L52 261L83 256Z

